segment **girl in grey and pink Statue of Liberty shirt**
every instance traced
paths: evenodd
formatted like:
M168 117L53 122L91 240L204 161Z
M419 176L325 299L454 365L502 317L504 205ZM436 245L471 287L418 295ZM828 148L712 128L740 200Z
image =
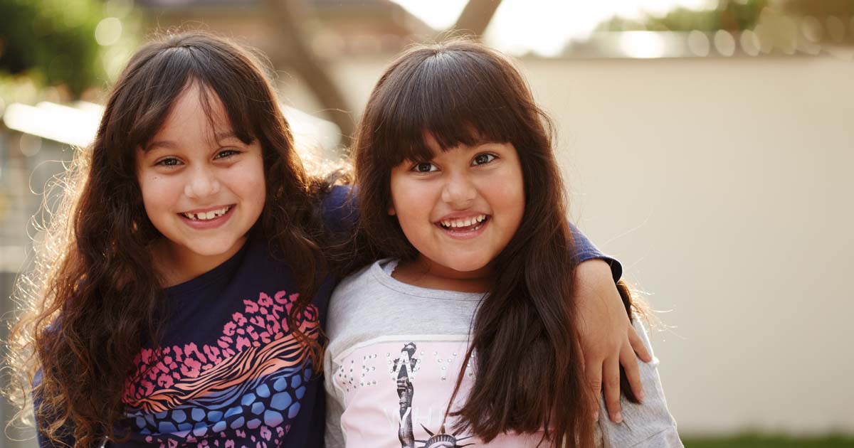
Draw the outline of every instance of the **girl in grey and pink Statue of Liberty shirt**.
M354 149L356 241L393 258L332 296L328 447L681 446L655 364L622 423L589 418L549 130L482 45L421 46L383 73Z

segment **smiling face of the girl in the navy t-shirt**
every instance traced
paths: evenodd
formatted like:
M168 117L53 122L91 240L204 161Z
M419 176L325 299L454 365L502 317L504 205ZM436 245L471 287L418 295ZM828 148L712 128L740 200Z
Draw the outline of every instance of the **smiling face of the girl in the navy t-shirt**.
M237 253L266 195L260 143L234 136L216 96L208 118L201 93L190 84L148 146L137 149L145 212L166 236L162 259L182 280Z

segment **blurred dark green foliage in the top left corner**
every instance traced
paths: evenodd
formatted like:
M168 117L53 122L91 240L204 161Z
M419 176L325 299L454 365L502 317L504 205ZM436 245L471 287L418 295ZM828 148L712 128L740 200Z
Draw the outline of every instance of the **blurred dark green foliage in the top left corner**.
M102 77L97 0L0 0L0 72L67 84L75 95Z

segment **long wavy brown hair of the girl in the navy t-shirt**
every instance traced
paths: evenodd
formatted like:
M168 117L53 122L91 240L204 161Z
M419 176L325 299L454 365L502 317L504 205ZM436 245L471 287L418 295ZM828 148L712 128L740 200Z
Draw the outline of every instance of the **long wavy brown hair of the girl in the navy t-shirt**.
M265 65L205 32L145 44L114 84L95 142L75 155L60 207L37 246L35 270L15 288L24 307L8 360L20 385L15 401L24 407L40 372L34 412L50 439L73 438L76 446L120 439L132 360L146 340L158 346L167 302L151 247L163 236L143 208L135 150L155 135L190 83L202 86L208 117L215 96L237 137L260 142L266 204L252 231L272 241L275 256L300 266L290 328L319 288L325 267L315 196L324 185L295 154ZM319 364L319 341L298 336Z

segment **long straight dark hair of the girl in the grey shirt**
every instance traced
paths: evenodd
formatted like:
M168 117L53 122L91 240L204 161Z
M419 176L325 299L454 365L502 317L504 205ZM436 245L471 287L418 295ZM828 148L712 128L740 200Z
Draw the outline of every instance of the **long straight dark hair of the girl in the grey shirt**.
M553 446L592 445L589 400L598 397L589 396L583 381L573 325L576 260L553 125L505 56L457 39L409 49L383 73L353 152L358 250L368 258L418 255L387 212L389 178L405 160L434 157L425 143L428 133L443 151L459 144L512 143L524 176L524 217L494 259L491 288L472 323L463 365L477 352L474 385L465 404L449 415L459 416L458 430L486 441L508 431L544 429Z

